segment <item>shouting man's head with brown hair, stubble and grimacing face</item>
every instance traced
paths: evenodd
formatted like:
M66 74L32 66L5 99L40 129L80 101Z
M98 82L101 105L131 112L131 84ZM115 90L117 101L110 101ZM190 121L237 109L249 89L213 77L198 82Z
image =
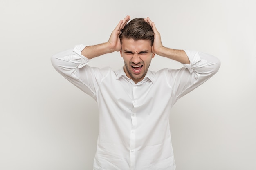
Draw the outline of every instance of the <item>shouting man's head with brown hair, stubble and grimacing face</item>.
M121 40L121 57L124 59L124 72L135 84L144 79L151 59L154 32L143 18L131 20L119 36Z

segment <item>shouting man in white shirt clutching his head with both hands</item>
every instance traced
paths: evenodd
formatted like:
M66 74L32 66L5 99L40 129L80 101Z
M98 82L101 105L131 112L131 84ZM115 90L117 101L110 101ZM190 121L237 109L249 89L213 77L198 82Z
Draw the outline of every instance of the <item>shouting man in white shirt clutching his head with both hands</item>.
M66 79L99 106L99 137L94 170L175 170L170 110L180 97L213 76L220 61L196 51L169 49L150 18L126 16L108 42L75 46L52 57ZM127 24L128 23L128 24ZM90 59L120 51L124 67L92 68ZM149 71L155 54L184 67Z

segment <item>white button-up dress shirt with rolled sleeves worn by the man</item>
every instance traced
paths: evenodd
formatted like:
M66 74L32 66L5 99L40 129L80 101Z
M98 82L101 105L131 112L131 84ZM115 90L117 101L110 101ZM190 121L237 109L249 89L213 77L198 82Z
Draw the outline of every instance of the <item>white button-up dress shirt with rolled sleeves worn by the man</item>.
M85 46L57 53L54 68L90 95L99 106L99 136L94 170L175 170L170 110L180 97L213 76L220 61L186 50L190 64L178 70L148 71L135 84L123 68L88 66Z

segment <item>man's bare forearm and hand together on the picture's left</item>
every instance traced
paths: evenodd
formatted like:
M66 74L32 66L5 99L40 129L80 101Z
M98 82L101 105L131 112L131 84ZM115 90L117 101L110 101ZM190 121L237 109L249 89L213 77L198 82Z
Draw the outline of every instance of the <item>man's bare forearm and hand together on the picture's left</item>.
M124 20L120 20L117 26L115 27L114 31L112 31L108 42L94 45L94 46L86 46L81 54L88 59L92 59L94 57L98 57L103 54L112 53L114 51L121 50L121 42L119 35L121 33L121 29L127 24L130 20L130 16L126 16Z

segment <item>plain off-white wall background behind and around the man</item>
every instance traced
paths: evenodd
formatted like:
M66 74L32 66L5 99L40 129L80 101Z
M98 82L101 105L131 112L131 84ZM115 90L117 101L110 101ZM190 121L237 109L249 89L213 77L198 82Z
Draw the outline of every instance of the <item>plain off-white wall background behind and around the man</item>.
M149 16L164 46L222 62L171 110L177 170L255 170L255 8L255 0L1 0L0 170L92 170L97 104L50 57L106 42L126 15ZM90 64L123 61L116 52ZM150 68L181 66L156 56Z

